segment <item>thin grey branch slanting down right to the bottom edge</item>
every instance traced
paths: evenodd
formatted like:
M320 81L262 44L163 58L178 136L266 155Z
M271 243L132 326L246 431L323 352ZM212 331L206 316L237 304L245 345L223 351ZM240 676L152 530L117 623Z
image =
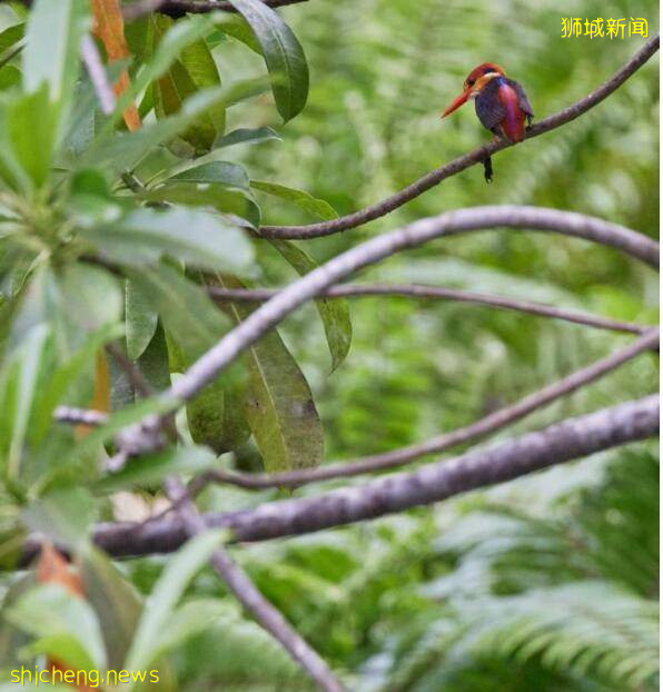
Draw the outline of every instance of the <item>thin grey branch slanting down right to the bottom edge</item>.
M194 536L207 530L202 517L187 496L184 485L174 478L166 483L168 496L181 517L187 535ZM249 576L230 558L228 552L218 548L210 564L228 585L244 607L271 634L290 656L316 681L320 690L343 692L344 686L332 673L325 661L287 622L281 613L258 591Z

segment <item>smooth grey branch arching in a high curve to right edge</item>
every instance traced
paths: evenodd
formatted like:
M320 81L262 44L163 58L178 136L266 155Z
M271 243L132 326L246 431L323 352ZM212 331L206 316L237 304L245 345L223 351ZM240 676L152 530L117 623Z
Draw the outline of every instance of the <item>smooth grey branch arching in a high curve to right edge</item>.
M263 334L300 305L358 269L433 238L502 226L546 230L593 240L617 248L652 267L659 266L659 245L654 240L595 217L557 209L508 205L448 211L370 238L293 281L198 358L164 396L178 402L189 401Z

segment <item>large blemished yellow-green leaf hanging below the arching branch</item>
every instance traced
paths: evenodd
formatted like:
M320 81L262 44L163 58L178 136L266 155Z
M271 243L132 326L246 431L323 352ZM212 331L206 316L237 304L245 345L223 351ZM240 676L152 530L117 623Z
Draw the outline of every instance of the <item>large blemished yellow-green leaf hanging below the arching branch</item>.
M226 288L243 286L227 276L216 281ZM236 323L250 314L241 304L228 305ZM246 352L244 362L249 373L244 412L265 468L273 473L317 466L323 458L320 419L308 383L278 332L263 336Z

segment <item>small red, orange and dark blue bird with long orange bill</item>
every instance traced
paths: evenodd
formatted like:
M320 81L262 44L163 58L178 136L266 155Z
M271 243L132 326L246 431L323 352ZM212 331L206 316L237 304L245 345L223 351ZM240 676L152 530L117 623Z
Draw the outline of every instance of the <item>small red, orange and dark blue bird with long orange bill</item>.
M474 99L476 115L482 125L497 138L505 137L518 142L525 138L525 120L532 125L534 113L525 90L517 81L508 79L504 70L494 62L484 62L474 68L463 83L463 91L442 113L453 113L466 101ZM493 179L491 157L484 160L486 182Z

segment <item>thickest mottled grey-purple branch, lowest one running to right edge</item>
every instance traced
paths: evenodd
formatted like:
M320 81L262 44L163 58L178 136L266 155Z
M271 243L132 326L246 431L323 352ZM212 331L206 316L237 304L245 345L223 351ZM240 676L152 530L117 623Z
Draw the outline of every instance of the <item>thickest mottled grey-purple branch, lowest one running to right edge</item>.
M488 449L313 497L286 500L243 512L204 515L210 527L229 528L237 541L267 541L352 524L468 491L512 481L548 466L588 456L659 432L659 395L568 418ZM636 469L634 469L636 472ZM181 518L146 524L100 524L95 541L109 555L167 553L187 540ZM23 561L38 550L24 546Z

